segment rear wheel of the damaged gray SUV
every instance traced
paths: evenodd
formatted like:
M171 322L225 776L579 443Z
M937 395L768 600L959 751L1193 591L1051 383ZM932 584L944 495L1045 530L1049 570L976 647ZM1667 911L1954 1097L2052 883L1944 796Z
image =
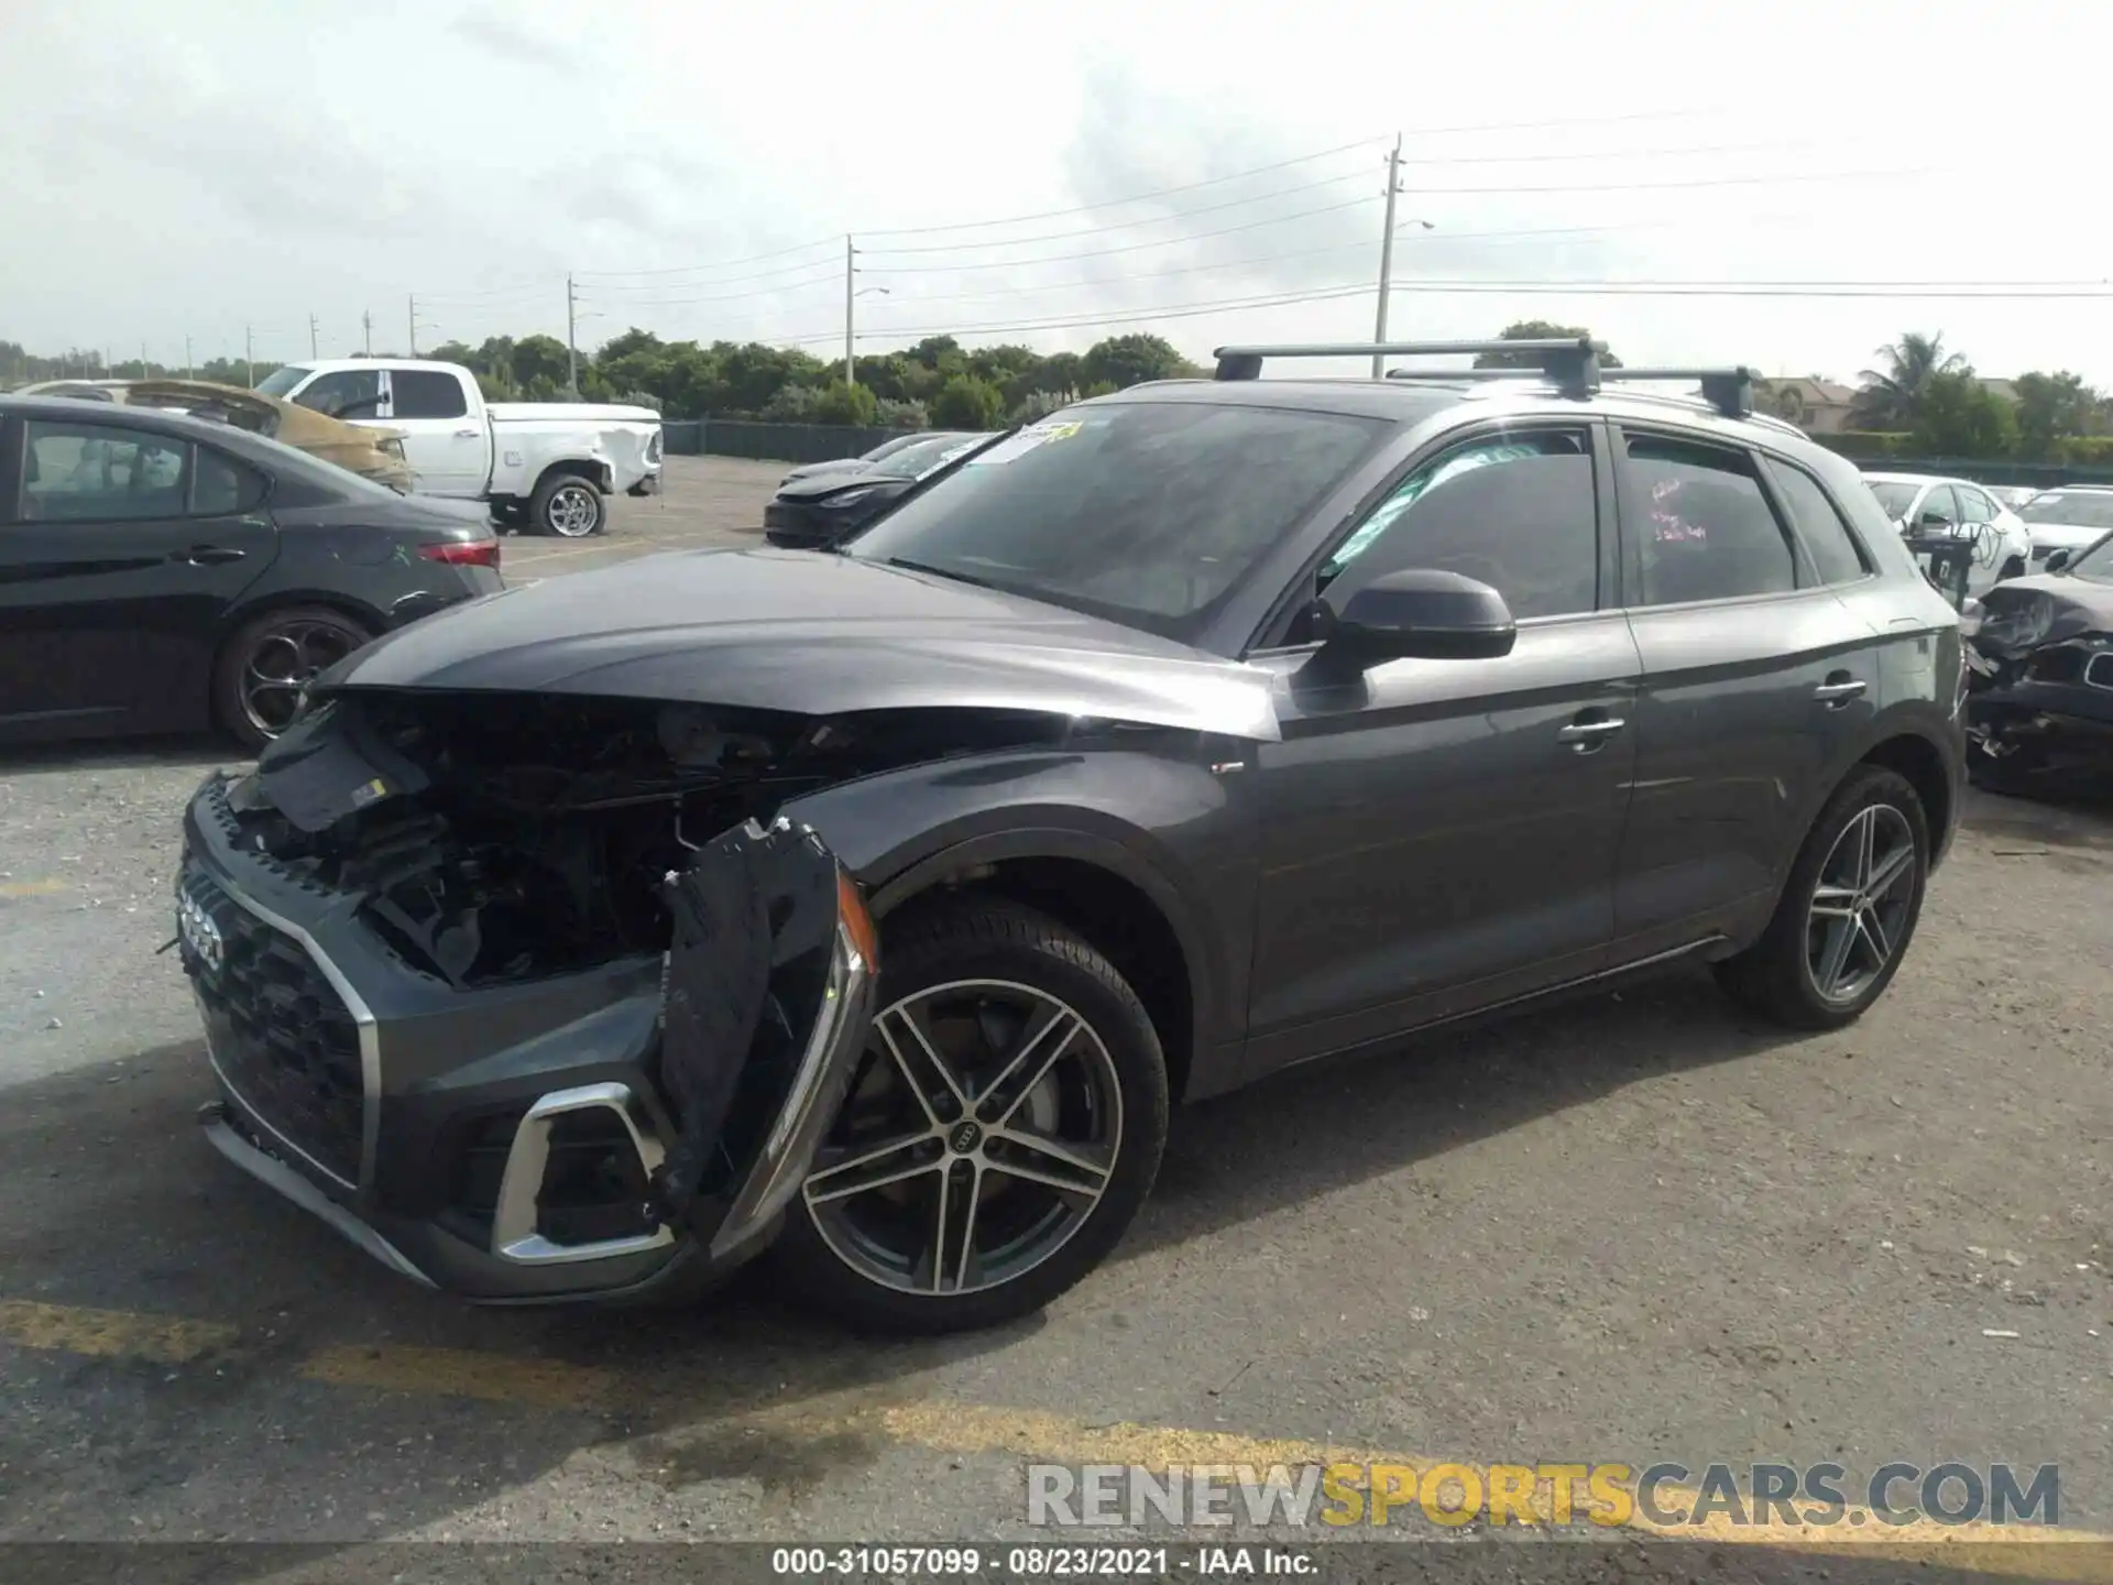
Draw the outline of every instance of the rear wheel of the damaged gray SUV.
M1929 818L1908 778L1862 765L1834 790L1760 940L1716 966L1743 1006L1840 1029L1893 983L1929 881Z

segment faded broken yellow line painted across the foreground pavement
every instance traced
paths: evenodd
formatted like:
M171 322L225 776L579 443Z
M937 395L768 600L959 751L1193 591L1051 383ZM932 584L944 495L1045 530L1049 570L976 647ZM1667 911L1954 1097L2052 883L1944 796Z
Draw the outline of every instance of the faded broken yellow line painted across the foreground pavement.
M239 1329L216 1321L137 1314L131 1310L87 1310L27 1300L0 1300L0 1342L25 1348L91 1355L104 1359L152 1359L182 1363L239 1342ZM568 1365L532 1355L499 1355L473 1348L420 1348L406 1344L332 1344L294 1365L294 1376L332 1386L408 1393L423 1397L465 1397L486 1403L513 1403L539 1410L611 1410L628 1401L655 1401L663 1386L592 1365ZM826 1446L845 1437L860 1441L923 1448L940 1454L1006 1454L1046 1465L1137 1465L1149 1471L1171 1467L1247 1467L1268 1479L1272 1467L1297 1471L1319 1465L1361 1467L1348 1486L1365 1488L1365 1475L1384 1467L1395 1481L1392 1507L1403 1515L1416 1509L1416 1484L1431 1469L1466 1460L1431 1458L1424 1454L1388 1452L1380 1448L1335 1446L1299 1437L1251 1437L1236 1431L1200 1431L1141 1422L1090 1422L1044 1410L1014 1410L983 1403L936 1399L885 1401L871 1391L839 1391L759 1407L746 1414L718 1416L699 1431L712 1437L742 1431L773 1431L790 1441ZM1469 1469L1479 1469L1469 1465ZM1523 1496L1523 1494L1521 1494ZM1661 1484L1661 1509L1688 1511L1699 1500L1695 1488ZM1942 1549L1942 1562L1971 1572L1999 1572L2018 1579L2050 1581L2113 1581L2113 1536L2088 1530L2003 1528L1984 1522L1938 1524L1916 1519L1891 1526L1866 1507L1849 1505L1832 1526L1754 1519L1737 1524L1731 1515L1712 1513L1699 1524L1661 1526L1642 1513L1627 1526L1600 1528L1585 1519L1585 1498L1572 1511L1572 1522L1557 1526L1542 1486L1532 1488L1519 1505L1534 1524L1507 1524L1521 1539L1532 1534L1627 1534L1678 1536L1720 1545L1800 1547L1817 1553L1859 1558L1900 1555L1929 1562ZM1350 1526L1312 1526L1314 1541L1371 1536L1365 1515ZM1397 1534L1411 1534L1399 1528Z

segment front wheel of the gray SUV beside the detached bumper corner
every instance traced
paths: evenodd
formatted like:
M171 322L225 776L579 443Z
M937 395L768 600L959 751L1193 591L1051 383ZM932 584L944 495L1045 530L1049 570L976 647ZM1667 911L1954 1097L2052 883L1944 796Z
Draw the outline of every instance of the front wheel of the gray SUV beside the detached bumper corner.
M1088 940L997 898L892 928L877 1006L778 1270L860 1327L1033 1314L1101 1264L1158 1175L1149 1014Z

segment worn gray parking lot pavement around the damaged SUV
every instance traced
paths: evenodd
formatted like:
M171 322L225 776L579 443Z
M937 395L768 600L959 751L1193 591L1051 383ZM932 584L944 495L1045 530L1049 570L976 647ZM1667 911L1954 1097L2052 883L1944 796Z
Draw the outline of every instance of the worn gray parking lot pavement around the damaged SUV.
M505 571L740 543L780 473L672 459L606 541ZM761 1279L471 1310L226 1167L154 949L177 809L228 759L0 761L0 1539L1027 1536L1037 1456L1316 1446L2058 1462L2062 1524L2113 1530L2102 792L1976 797L1845 1033L1690 976L1287 1076L1181 1116L1046 1317L879 1344Z

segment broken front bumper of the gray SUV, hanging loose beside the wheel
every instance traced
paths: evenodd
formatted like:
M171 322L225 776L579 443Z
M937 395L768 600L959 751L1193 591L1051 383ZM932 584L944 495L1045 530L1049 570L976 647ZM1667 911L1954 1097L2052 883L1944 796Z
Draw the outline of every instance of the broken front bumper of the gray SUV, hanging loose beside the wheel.
M666 877L674 938L463 989L243 841L184 820L177 943L207 1139L393 1270L480 1302L640 1295L771 1241L843 1101L877 949L807 828L746 822Z

